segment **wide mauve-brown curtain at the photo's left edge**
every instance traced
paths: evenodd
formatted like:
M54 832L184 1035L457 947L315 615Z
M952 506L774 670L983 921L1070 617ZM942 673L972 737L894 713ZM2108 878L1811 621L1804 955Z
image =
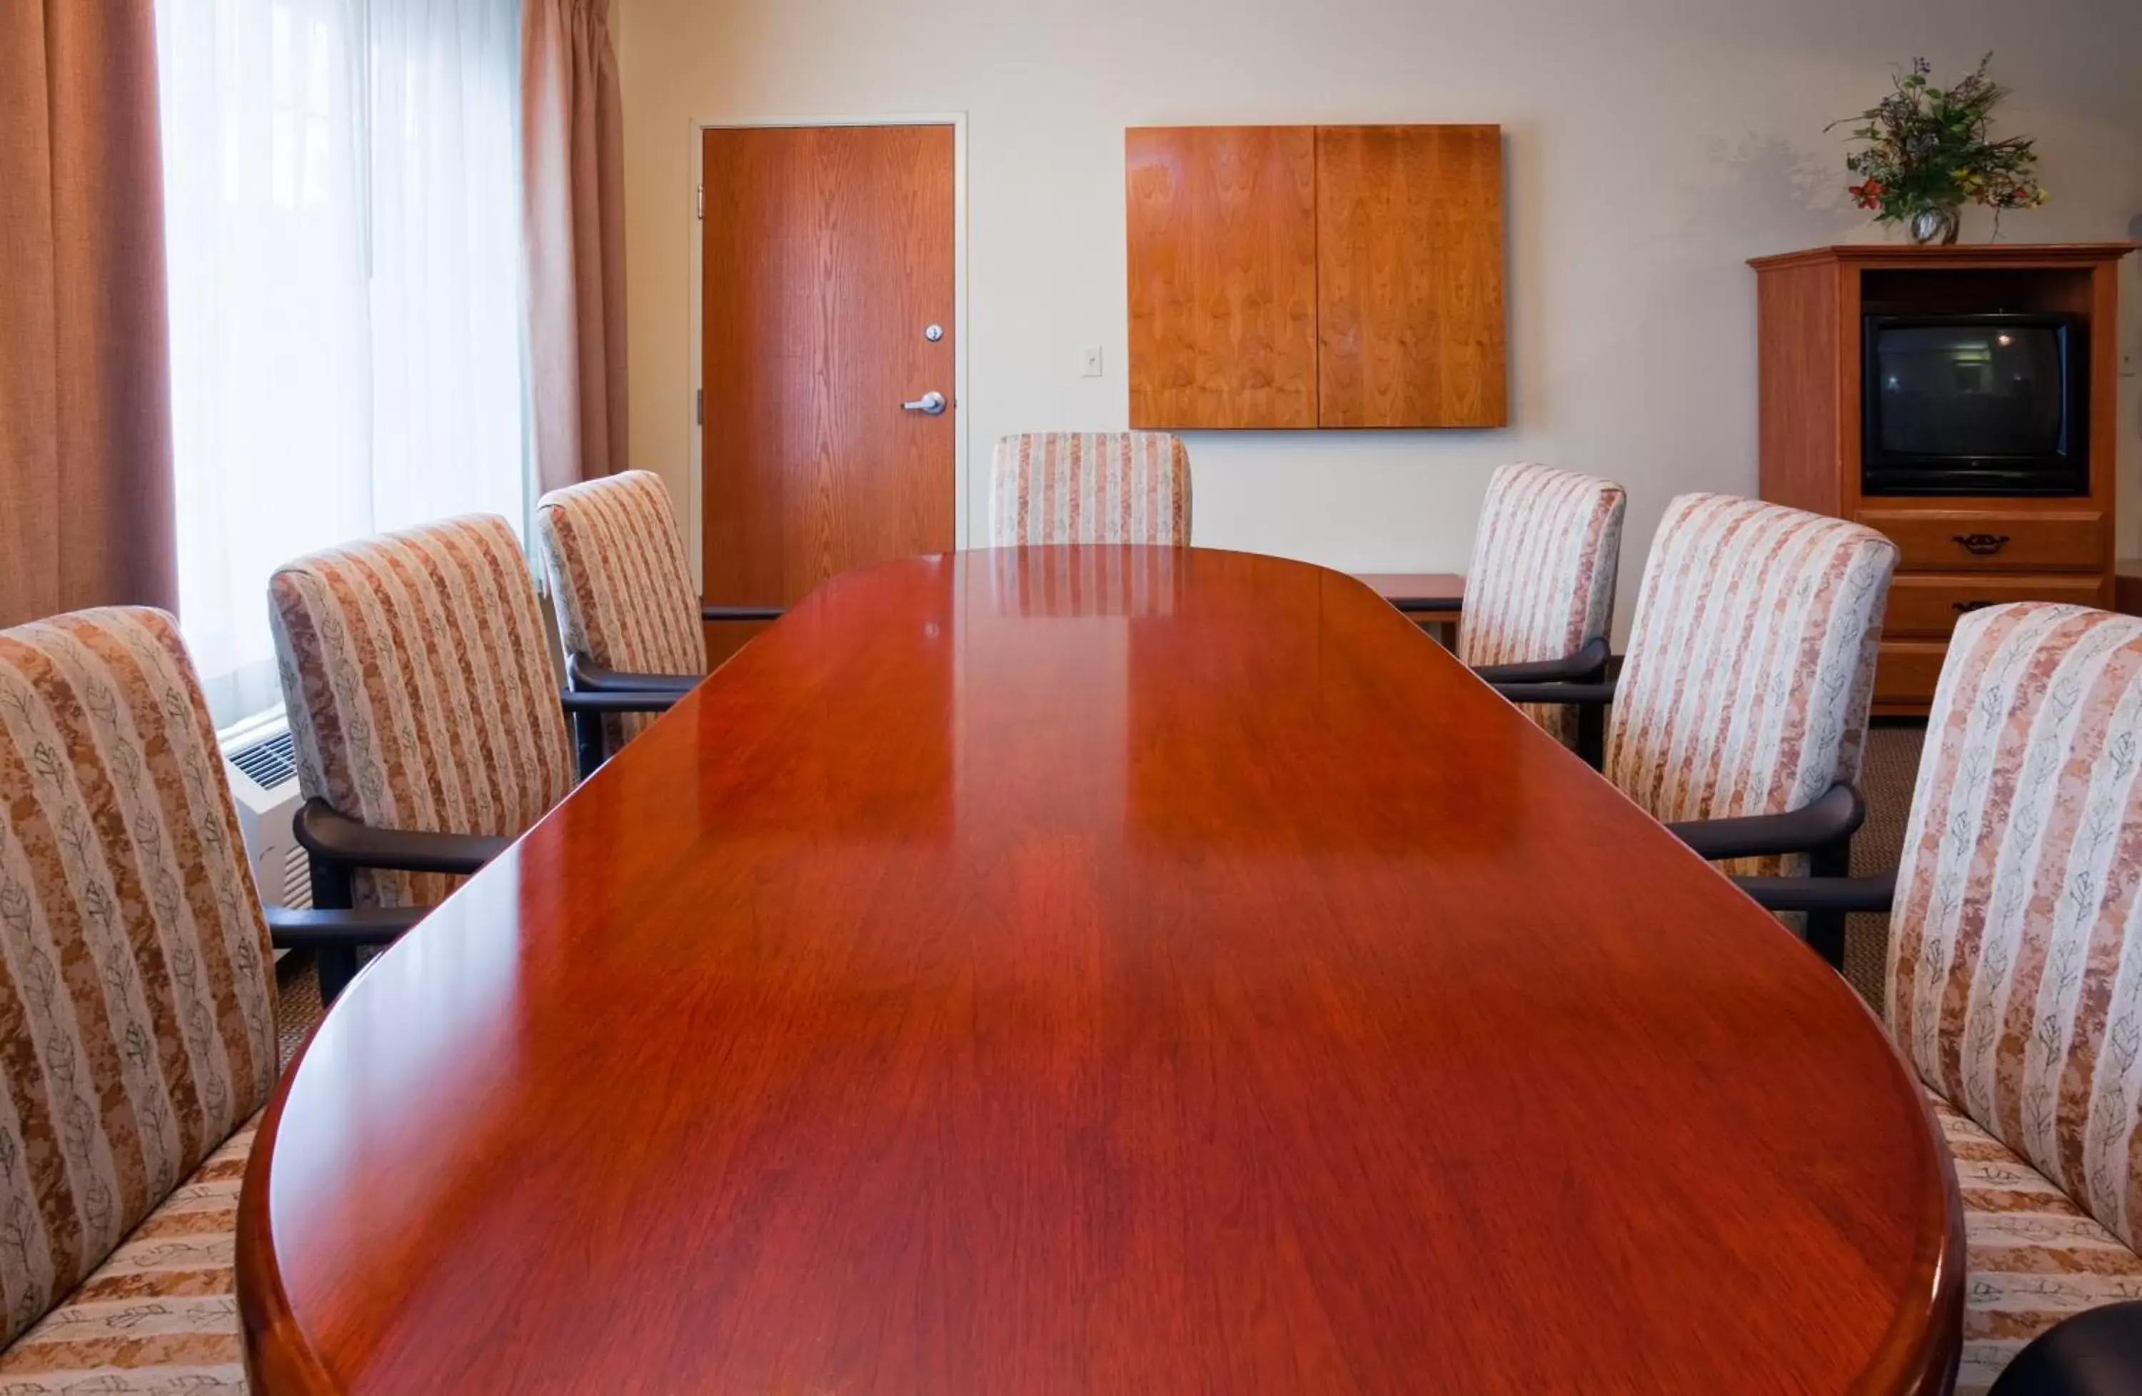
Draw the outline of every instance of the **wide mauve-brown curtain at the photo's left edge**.
M174 606L150 0L0 0L0 625Z

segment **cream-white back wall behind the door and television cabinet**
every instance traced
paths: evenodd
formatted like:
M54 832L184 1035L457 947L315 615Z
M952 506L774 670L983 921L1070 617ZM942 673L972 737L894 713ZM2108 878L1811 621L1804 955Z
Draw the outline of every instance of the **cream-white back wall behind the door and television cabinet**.
M1748 257L1881 233L1844 206L1825 122L1891 60L1994 49L2003 131L2048 208L2009 240L2142 218L2136 0L619 0L632 447L690 471L692 122L968 113L972 516L1009 430L1122 426L1122 128L1499 122L1512 426L1197 433L1195 542L1349 570L1465 565L1487 471L1549 460L1630 488L1624 617L1664 501L1754 492ZM1966 214L1986 238L1990 214ZM2133 225L2142 233L2142 225ZM2142 278L2123 278L2123 345ZM1101 345L1107 373L1080 377ZM2121 381L2129 505L2138 379ZM2142 510L2121 518L2142 552ZM979 535L977 535L979 537ZM1624 621L1626 623L1626 621Z

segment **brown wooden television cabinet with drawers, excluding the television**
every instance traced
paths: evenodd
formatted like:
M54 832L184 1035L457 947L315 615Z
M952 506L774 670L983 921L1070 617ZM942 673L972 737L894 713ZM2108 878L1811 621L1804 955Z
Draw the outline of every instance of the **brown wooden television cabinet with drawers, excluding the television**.
M1756 257L1763 499L1896 542L1879 715L1924 715L1956 617L1998 602L2112 606L2118 261L2125 242L1821 246ZM1864 315L2065 313L2086 345L2088 492L1861 492Z

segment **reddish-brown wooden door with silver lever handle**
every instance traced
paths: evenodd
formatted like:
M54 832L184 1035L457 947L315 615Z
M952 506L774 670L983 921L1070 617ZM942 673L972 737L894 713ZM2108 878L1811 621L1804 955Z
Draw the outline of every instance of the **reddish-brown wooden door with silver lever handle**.
M953 128L703 141L707 602L788 606L838 572L951 550ZM945 411L904 407L932 392ZM756 629L709 623L709 657Z

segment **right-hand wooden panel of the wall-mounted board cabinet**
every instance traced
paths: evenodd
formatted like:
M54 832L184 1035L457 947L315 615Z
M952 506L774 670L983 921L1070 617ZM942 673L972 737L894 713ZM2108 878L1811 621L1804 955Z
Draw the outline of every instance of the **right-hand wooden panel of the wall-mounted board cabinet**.
M1317 126L1317 422L1508 426L1502 128Z

